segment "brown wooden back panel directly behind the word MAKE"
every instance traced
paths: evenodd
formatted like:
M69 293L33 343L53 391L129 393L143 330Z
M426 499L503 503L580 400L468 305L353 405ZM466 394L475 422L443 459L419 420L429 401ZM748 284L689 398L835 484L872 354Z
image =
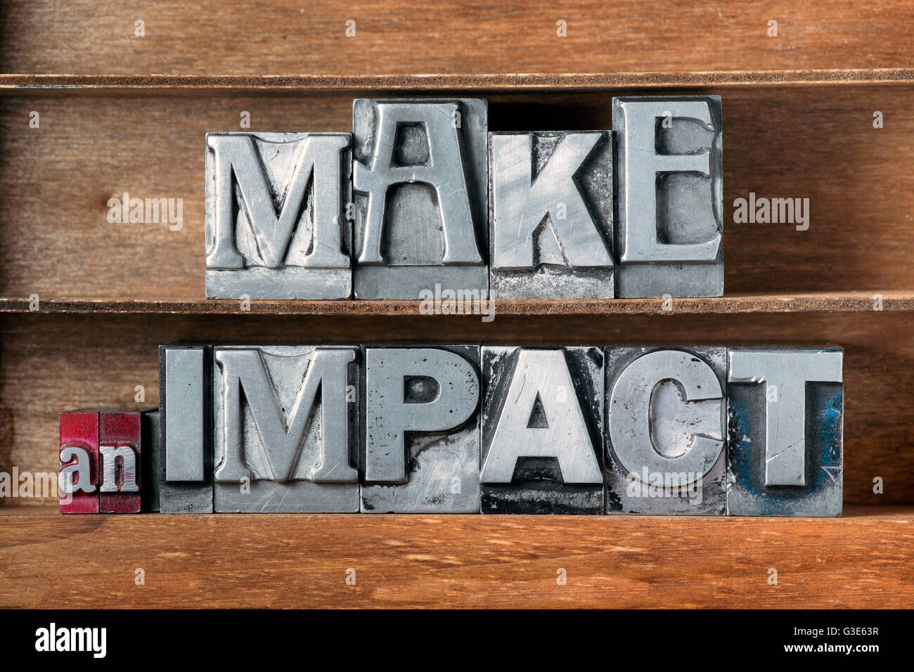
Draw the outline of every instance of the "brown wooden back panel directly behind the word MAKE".
M493 93L490 128L607 128L611 96ZM723 108L726 294L914 292L914 86L734 88ZM242 111L252 130L345 131L352 94L0 94L0 295L202 298L204 133L238 130ZM182 198L183 227L109 223L123 192ZM809 229L734 223L749 192L809 198Z

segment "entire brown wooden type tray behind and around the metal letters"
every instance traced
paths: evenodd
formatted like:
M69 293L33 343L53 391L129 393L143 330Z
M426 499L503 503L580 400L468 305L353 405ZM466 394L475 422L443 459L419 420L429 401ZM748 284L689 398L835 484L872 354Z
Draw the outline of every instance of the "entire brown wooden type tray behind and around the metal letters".
M61 517L10 499L0 606L909 606L912 44L914 3L898 0L4 3L0 470L56 469L58 411L154 406L164 342L829 343L846 348L847 506L826 520ZM508 302L491 324L411 302L203 298L203 133L239 130L242 111L255 131L345 131L357 96L462 94L489 98L493 130L607 128L611 97L642 91L723 96L722 298L671 313ZM183 229L109 224L124 191L183 198ZM810 198L810 229L734 224L749 191Z

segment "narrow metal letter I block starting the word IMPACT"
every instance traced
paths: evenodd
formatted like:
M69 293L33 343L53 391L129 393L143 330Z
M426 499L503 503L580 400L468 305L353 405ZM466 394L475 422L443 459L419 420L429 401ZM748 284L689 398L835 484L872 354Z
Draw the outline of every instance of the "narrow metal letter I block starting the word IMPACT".
M159 347L159 510L213 512L212 348Z

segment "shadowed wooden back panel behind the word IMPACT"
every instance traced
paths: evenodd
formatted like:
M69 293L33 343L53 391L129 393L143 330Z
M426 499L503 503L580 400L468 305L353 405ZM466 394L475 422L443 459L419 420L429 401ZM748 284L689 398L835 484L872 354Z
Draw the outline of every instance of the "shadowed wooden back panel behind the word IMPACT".
M154 408L163 343L845 347L845 503L914 502L914 311L638 315L19 313L0 319L0 471L58 469L58 412ZM135 400L142 385L144 400ZM885 494L873 493L873 478Z

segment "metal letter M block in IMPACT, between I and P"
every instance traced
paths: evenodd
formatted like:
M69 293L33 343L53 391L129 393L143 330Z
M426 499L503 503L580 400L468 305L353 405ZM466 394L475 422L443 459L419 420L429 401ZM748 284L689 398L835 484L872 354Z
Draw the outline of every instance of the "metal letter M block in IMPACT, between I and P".
M358 511L358 354L215 348L218 513Z

